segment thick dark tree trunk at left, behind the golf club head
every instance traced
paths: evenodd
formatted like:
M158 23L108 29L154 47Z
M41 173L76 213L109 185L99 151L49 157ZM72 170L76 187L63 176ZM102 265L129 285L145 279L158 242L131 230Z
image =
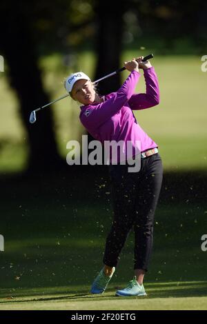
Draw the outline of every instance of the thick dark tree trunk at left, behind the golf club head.
M11 86L17 91L23 125L28 133L28 171L43 173L60 167L63 161L57 152L50 108L37 112L37 123L29 123L30 112L48 103L49 99L43 90L26 14L18 4L16 6L12 3L12 10L7 7L3 6L8 10L1 11L1 48L9 66Z

